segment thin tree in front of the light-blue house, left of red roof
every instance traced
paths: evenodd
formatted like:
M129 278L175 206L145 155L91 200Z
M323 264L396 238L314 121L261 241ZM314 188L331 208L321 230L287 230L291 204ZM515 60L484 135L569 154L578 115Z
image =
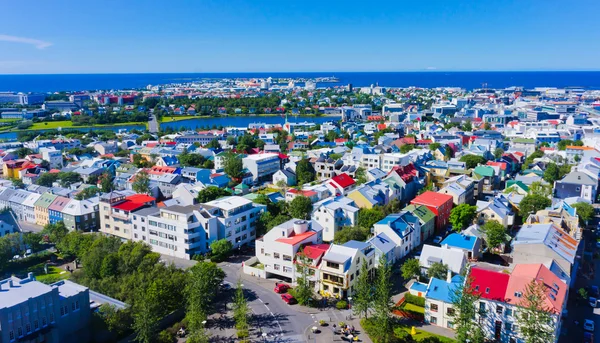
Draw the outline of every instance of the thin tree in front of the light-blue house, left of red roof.
M472 278L468 277L464 283L453 283L450 289L452 300L451 317L456 330L458 342L483 343L483 332L477 321L474 320L477 310L475 304L479 301L479 294L474 292Z

